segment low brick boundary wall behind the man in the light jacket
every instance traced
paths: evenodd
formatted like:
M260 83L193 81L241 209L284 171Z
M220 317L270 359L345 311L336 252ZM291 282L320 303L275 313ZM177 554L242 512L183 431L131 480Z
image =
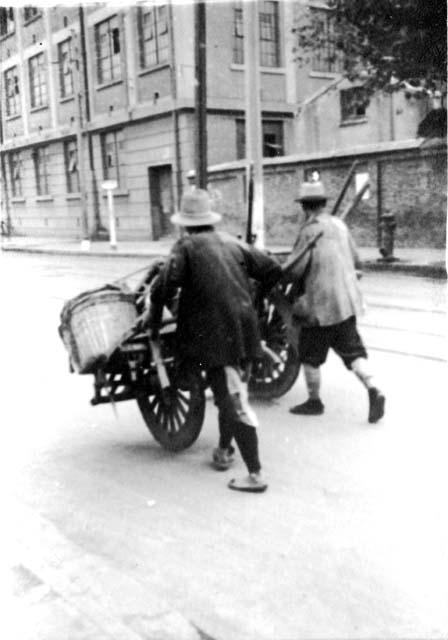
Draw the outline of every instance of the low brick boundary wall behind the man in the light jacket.
M376 147L376 148L375 148ZM375 246L378 216L393 213L397 221L398 247L443 248L446 237L446 142L426 148L422 141L370 145L330 157L304 154L264 162L265 225L268 244L290 246L303 222L297 198L305 172L317 169L328 193L328 206L335 202L354 160L357 173L367 173L370 195L346 218L360 245ZM380 169L378 168L380 167ZM378 200L378 172L382 176L382 197ZM209 173L216 206L223 213L225 228L245 231L244 166L231 163ZM340 213L355 197L352 182Z

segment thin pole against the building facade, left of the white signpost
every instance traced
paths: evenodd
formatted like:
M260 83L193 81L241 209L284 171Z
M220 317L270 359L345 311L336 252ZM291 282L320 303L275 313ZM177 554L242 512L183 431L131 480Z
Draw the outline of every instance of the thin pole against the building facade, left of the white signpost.
M90 250L89 236L89 217L87 211L87 193L86 193L86 167L84 156L84 139L83 139L83 109L82 109L82 90L81 90L81 69L80 69L80 50L78 45L78 34L72 30L72 73L73 73L73 89L76 103L76 148L78 152L78 176L79 191L81 194L81 226L82 240L81 248L85 251Z

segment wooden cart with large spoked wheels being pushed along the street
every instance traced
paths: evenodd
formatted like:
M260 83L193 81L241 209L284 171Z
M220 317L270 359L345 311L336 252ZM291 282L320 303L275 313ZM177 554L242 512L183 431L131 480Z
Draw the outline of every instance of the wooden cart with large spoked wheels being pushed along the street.
M133 292L136 318L148 304L157 273L156 265L150 267ZM254 365L249 389L256 397L275 398L295 382L299 363L274 305L263 299L257 306L263 356ZM136 400L155 440L170 451L181 451L191 446L201 431L206 381L200 372L179 369L175 333L175 317L167 314L157 341L151 340L147 331L130 330L107 357L81 373L94 376L92 405ZM70 341L64 342L69 348Z

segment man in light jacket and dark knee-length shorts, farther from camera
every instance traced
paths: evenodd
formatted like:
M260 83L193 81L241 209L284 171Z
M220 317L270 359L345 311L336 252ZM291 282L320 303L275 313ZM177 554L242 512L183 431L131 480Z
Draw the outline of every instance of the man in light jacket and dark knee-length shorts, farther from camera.
M304 182L298 202L306 221L300 230L289 262L288 277L302 295L294 306L302 329L299 358L303 364L308 399L290 409L299 415L320 415L324 405L320 398L320 366L332 348L347 369L353 371L366 387L369 398L368 421L384 414L385 398L375 384L367 366L367 351L358 333L356 318L362 310L357 269L361 266L355 244L345 223L325 211L327 196L320 181ZM303 248L317 235L311 251Z

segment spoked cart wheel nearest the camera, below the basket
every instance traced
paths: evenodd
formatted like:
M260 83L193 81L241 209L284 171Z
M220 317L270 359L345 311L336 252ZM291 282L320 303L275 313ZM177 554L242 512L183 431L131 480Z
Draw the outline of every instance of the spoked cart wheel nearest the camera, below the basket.
M154 438L169 451L182 451L195 442L205 414L201 381L192 377L182 389L152 389L137 395L137 404Z

